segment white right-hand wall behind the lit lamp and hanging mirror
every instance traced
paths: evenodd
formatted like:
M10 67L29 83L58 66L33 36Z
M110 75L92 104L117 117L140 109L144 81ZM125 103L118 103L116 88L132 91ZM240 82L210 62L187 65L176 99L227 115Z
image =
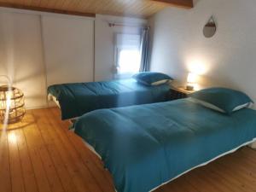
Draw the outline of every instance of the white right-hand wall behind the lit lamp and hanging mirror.
M184 82L201 67L202 86L223 85L247 92L256 101L256 1L198 0L194 9L165 9L150 19L151 70ZM217 33L204 38L210 16Z

